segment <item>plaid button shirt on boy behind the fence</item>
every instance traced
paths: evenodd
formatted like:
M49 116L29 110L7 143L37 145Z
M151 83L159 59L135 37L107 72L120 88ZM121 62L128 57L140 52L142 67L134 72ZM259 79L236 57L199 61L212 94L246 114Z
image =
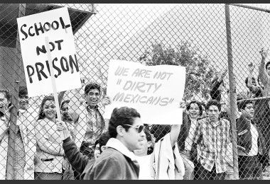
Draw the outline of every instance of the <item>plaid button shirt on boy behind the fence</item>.
M195 144L200 144L198 157L200 163L207 171L212 171L215 164L216 173L227 171L227 149L231 142L229 121L220 119L218 122L210 122L210 118L198 121L195 130Z

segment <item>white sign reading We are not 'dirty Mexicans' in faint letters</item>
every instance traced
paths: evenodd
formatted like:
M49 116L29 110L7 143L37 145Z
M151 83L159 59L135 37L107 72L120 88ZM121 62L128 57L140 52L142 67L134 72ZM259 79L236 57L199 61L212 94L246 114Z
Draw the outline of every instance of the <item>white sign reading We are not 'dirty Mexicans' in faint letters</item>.
M109 62L107 96L104 117L114 108L135 108L146 124L182 124L179 103L185 89L185 67L172 65L144 66L136 62Z

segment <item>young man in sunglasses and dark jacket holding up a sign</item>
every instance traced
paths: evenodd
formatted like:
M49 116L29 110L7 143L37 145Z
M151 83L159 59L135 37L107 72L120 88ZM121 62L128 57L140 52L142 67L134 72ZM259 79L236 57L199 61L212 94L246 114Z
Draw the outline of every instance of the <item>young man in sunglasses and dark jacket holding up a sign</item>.
M84 180L134 180L139 177L139 163L133 153L144 144L144 124L134 108L114 108L109 120L106 149L94 161L78 151L69 137L65 122L58 122L64 137L63 148L68 160Z

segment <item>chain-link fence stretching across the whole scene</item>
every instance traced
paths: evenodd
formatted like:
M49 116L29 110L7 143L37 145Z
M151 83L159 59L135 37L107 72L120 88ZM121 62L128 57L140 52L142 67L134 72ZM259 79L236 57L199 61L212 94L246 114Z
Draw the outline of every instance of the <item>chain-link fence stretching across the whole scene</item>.
M108 130L102 115L110 59L180 65L186 67L186 109L178 137L184 179L269 177L269 69L262 59L268 62L266 52L260 51L269 48L270 16L263 7L229 5L229 21L225 4L0 4L1 179L80 178L48 120L53 98L28 98L22 87L16 18L62 6L69 8L83 87L59 93L60 110L83 154L94 158L97 144L106 144L99 137ZM92 83L100 88L85 89ZM100 108L85 107L86 100L97 99ZM221 103L218 112L210 112L210 99ZM243 99L252 103L243 106ZM220 127L213 128L211 118L219 112ZM171 130L169 123L147 127L156 141Z

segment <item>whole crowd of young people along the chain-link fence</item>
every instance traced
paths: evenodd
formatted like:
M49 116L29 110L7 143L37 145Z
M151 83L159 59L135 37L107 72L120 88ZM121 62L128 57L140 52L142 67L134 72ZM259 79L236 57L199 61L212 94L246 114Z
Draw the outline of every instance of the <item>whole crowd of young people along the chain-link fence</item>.
M269 166L270 62L261 50L259 76L254 65L243 82L249 93L237 96L237 110L229 106L223 71L212 80L207 103L180 102L180 125L148 125L139 109L114 108L109 120L102 88L89 82L59 94L61 117L55 99L45 96L38 117L28 111L27 88L18 92L18 114L11 140L11 112L15 108L8 89L0 89L0 179L234 179L232 113L237 115L239 178L262 179ZM182 112L181 110L179 112ZM13 128L14 130L14 128ZM15 147L11 146L14 142ZM15 150L11 150L15 149ZM13 152L13 154L9 154Z

